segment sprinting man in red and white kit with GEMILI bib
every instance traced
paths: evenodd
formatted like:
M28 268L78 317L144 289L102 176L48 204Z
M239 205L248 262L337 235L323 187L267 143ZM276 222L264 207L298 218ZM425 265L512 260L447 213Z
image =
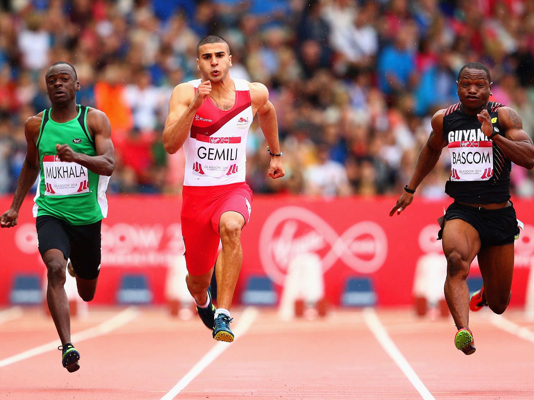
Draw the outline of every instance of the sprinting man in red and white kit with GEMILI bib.
M267 88L230 77L232 56L222 37L203 38L197 56L202 78L179 84L172 92L163 144L170 154L181 147L185 152L181 217L187 288L214 339L231 342L229 310L243 260L240 235L252 204L245 149L256 113L271 155L269 177L283 177L284 167ZM219 237L222 251L215 260ZM215 261L217 309L209 291Z

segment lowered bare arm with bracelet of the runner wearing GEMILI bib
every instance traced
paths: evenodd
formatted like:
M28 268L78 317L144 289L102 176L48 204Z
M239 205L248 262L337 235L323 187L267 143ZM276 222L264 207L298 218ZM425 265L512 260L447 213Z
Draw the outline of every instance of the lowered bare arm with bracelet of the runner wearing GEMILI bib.
M276 111L269 101L269 91L261 83L249 83L250 101L253 113L258 114L258 121L262 129L269 150L272 154L280 154L280 142L278 140L278 122ZM285 175L284 166L280 156L271 157L269 176L272 179L281 178Z

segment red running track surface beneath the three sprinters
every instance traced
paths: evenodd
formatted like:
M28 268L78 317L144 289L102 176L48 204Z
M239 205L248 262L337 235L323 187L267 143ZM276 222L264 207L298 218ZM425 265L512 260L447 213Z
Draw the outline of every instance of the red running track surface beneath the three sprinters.
M120 311L91 308L87 318L73 319L72 330L106 324ZM236 330L240 311L234 312ZM490 314L472 315L477 351L465 356L454 348L452 319L431 322L410 310L376 311L408 369L428 390L426 398L534 398L534 342L495 326ZM174 398L425 398L375 338L365 315L338 310L316 321L282 322L274 310L260 309L250 328L232 345L222 345L224 352L206 362ZM522 313L504 316L534 338L534 324ZM499 319L505 325L507 320ZM2 365L7 357L56 340L56 332L40 309L25 309L11 321L2 322L0 314L0 338ZM1 366L0 400L168 398L168 391L217 342L197 318L180 321L161 308L140 308L122 326L74 344L82 358L81 369L72 374L61 366L59 350Z

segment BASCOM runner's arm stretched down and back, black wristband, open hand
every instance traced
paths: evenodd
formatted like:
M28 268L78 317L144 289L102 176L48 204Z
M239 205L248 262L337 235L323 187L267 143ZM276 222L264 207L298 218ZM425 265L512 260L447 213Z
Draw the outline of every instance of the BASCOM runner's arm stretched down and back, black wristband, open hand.
M439 110L432 117L432 131L428 137L427 142L421 148L419 157L417 158L417 164L415 164L415 171L412 174L412 178L408 183L408 188L415 190L423 179L434 169L441 156L441 151L447 145L445 137L443 136L443 116L446 110ZM403 191L397 200L397 204L389 212L391 217L397 211L397 215L400 214L413 200L413 194Z

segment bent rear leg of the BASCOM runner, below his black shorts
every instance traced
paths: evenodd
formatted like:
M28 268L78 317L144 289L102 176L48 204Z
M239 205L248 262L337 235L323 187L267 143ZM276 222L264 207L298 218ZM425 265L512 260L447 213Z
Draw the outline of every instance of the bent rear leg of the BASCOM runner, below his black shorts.
M514 244L486 247L478 253L484 280L484 297L496 314L504 313L510 302L514 273Z

